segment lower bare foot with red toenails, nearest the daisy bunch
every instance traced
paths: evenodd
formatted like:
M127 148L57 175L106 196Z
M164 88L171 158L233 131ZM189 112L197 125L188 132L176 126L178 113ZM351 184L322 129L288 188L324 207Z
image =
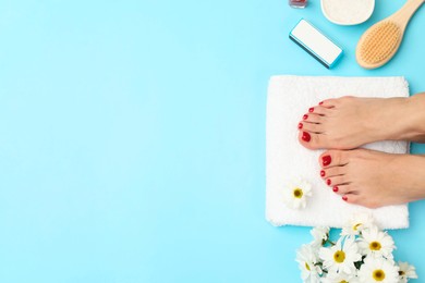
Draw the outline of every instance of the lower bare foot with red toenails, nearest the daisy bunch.
M319 163L326 184L350 204L377 208L425 197L425 156L328 150Z

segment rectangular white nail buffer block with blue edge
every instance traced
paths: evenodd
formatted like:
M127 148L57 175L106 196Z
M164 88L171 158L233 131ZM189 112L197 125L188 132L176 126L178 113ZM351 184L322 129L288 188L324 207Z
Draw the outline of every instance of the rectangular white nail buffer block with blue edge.
M289 34L295 44L330 69L342 56L342 49L311 23L302 19Z

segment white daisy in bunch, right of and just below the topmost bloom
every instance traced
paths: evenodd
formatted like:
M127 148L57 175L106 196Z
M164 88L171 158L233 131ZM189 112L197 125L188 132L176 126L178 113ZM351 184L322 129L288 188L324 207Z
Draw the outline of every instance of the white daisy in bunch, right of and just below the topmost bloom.
M393 258L392 250L396 248L392 237L387 232L379 231L376 226L362 232L359 247L362 255L384 256L387 259Z

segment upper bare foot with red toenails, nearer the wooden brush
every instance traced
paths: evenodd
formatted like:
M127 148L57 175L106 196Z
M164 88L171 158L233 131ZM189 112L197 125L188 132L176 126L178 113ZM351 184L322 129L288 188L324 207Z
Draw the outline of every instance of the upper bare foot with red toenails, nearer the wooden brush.
M352 149L378 140L425 142L425 94L410 98L328 99L299 123L309 149Z

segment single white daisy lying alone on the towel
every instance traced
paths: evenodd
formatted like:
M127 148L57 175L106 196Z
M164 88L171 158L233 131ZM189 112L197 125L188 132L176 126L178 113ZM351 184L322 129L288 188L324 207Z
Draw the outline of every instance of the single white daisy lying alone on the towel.
M307 197L312 196L312 185L303 180L290 183L283 188L283 201L292 209L305 208Z

